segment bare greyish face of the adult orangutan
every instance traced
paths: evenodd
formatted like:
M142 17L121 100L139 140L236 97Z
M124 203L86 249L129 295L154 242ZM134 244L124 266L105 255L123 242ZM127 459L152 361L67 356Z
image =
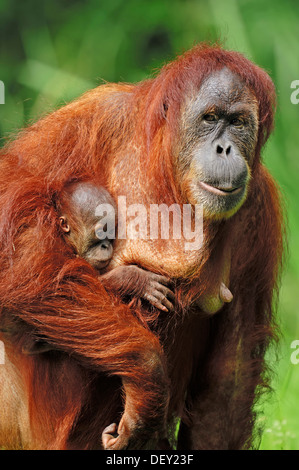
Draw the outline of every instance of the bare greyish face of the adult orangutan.
M254 95L229 69L211 74L183 114L179 166L190 202L228 218L246 198L258 130Z

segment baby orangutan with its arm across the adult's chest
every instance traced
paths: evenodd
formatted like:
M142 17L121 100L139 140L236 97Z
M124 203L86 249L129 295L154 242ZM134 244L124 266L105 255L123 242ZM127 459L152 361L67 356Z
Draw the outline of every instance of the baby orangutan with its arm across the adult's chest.
M147 300L160 310L172 310L174 294L168 278L134 265L105 272L113 256L116 213L115 203L103 187L73 183L64 191L60 226L77 255L99 271L107 289L122 297Z

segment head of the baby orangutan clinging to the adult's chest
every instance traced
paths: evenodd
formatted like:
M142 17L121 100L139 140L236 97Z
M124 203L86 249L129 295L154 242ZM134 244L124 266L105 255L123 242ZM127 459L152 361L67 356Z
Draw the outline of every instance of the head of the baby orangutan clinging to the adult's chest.
M105 216L103 210L96 215L99 207L105 209ZM115 204L104 188L76 183L68 190L59 221L78 256L97 270L108 266L113 256Z

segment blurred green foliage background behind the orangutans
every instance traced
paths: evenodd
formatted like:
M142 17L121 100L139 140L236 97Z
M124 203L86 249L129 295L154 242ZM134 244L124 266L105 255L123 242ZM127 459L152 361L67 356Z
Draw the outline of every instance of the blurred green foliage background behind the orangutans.
M202 40L221 39L270 73L278 110L264 158L286 199L289 256L260 448L299 449L299 364L290 361L299 340L299 104L290 101L299 80L298 0L0 0L0 38L2 142L102 80L142 80Z

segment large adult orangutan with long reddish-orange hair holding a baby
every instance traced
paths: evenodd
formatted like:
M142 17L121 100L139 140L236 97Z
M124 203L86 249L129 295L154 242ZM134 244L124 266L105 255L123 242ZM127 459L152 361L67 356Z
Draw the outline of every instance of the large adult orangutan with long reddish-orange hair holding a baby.
M260 157L274 105L263 70L202 44L156 78L90 91L2 150L3 446L154 449L175 443L179 418L178 449L254 444L283 244ZM174 311L124 303L70 255L57 207L66 184L89 179L127 205L202 205L197 250L184 239L115 241L111 269L171 279ZM221 282L233 301L204 314ZM24 355L28 339L53 350Z

